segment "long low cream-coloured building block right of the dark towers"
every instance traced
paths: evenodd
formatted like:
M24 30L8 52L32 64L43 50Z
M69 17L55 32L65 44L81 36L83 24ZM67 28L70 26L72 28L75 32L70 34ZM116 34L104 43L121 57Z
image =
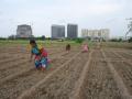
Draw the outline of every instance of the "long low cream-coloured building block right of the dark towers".
M108 41L109 40L110 30L109 29L100 29L100 30L81 30L81 37L90 38L91 41Z

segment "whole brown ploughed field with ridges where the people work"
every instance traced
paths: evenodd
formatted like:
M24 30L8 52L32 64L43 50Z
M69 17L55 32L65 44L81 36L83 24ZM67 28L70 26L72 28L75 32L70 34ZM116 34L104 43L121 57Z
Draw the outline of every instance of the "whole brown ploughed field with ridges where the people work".
M29 62L28 42L0 43L0 99L132 99L131 44L89 42L81 53L74 42L37 43L52 61L44 72Z

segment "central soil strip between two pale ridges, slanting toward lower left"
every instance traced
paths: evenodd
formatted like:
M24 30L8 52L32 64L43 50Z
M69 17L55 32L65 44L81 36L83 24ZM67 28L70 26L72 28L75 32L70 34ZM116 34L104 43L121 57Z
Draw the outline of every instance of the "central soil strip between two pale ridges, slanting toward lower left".
M45 80L36 89L35 94L23 99L68 99L87 61L88 54L79 54L65 67Z

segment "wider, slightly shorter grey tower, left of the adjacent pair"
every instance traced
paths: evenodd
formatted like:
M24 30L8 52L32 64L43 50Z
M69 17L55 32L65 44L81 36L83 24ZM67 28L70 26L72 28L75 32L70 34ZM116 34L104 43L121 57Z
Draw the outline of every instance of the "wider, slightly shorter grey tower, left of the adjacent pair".
M52 38L64 38L65 26L64 25L52 25Z

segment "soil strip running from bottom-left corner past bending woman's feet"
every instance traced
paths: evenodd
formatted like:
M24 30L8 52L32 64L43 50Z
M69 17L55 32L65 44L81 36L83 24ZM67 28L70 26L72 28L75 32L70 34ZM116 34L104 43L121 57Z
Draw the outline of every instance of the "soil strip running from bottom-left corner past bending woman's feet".
M66 55L68 57L68 54ZM44 79L48 74L58 68L67 59L54 59L51 64L51 68L45 72L40 72L36 69L29 70L21 74L4 84L0 85L0 98L1 99L16 99L22 91L34 86L37 81Z

